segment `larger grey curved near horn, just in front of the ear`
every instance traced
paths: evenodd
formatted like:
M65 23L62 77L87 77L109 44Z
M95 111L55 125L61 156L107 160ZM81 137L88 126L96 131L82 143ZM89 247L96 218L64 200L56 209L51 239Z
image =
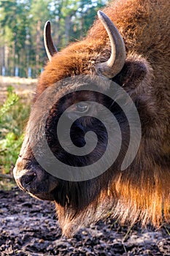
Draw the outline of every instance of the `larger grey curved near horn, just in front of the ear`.
M104 12L98 11L98 18L107 30L111 42L112 53L108 61L96 64L96 72L98 75L114 78L125 64L125 44L119 31Z

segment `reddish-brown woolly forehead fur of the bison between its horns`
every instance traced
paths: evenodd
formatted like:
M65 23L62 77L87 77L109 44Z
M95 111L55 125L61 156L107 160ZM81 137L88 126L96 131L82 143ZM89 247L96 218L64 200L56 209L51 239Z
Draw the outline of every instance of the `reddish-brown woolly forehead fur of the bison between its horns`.
M108 49L106 51L106 48ZM94 65L99 61L106 61L110 55L110 46L98 41L76 42L60 53L53 56L52 61L47 63L44 72L39 79L36 89L37 95L48 86L62 80L63 78L74 77L75 75L92 75ZM102 56L102 57L101 57Z

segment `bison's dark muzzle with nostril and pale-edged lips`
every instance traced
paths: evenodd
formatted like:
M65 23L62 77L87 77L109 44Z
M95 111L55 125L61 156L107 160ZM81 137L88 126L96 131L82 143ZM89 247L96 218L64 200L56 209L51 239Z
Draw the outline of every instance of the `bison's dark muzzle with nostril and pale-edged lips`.
M19 157L13 173L18 187L23 191L41 200L54 200L53 191L58 182L37 163Z

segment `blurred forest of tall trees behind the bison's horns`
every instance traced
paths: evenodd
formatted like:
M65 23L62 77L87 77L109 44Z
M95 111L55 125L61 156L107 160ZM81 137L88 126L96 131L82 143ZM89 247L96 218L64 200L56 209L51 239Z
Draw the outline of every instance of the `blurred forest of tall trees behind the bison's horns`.
M58 49L84 37L98 9L107 0L1 0L0 1L0 75L37 77L45 59L43 29L53 23L53 38ZM19 69L19 72L18 72Z

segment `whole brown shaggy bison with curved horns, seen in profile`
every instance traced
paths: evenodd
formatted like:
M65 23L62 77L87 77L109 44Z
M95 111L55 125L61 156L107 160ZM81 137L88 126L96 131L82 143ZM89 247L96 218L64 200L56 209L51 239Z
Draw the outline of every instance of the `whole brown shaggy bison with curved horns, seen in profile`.
M120 224L140 222L146 225L151 222L159 227L161 223L169 222L169 7L170 1L167 0L112 1L103 12L98 11L98 18L84 39L59 53L50 34L50 22L45 25L45 48L49 61L36 87L31 121L28 121L14 176L20 189L31 196L55 202L63 234L67 236L108 212L111 217L118 218ZM134 102L142 137L134 160L125 170L121 169L121 163L128 150L130 128L123 109L106 94L90 91L89 87L80 90L82 80L79 82L77 77L88 85L96 83L96 87L99 83L96 78L103 80L99 87L103 86L106 93L105 81L109 80L111 87L116 83ZM61 81L64 79L70 80L63 84ZM97 115L100 110L91 102L104 105L119 122L122 135L120 154L101 175L82 181L65 180L45 170L37 161L31 141L39 138L41 144L42 112L52 100L42 97L42 94L54 84L57 86L51 93L55 104L45 120L44 133L50 150L66 165L90 165L107 148L107 131L97 118L93 118L93 114ZM72 105L74 108L69 108ZM97 146L88 157L72 155L59 143L56 127L66 108L69 108L69 113L65 118L74 119L70 131L74 145L85 146L86 132L97 134ZM85 119L79 118L79 113L87 113ZM113 130L114 148L116 135L112 127L109 129ZM41 145L39 154L50 168L50 161ZM67 168L63 174L65 171Z

